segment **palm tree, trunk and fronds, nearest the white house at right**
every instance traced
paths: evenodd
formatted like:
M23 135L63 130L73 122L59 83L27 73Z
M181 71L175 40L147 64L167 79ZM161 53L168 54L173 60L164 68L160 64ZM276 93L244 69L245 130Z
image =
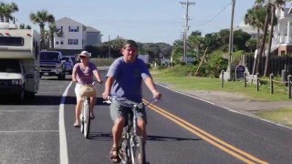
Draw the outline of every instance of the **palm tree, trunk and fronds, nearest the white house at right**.
M273 0L274 2L269 1L269 6L271 7L271 22L270 22L270 33L268 36L268 49L267 49L267 54L266 54L266 63L265 63L265 71L264 71L264 76L266 77L267 75L267 68L269 67L269 60L270 60L270 53L271 53L271 46L272 46L272 38L273 38L273 31L274 31L274 26L275 26L275 9L276 7L279 7L283 9L281 6L285 4L285 0Z

